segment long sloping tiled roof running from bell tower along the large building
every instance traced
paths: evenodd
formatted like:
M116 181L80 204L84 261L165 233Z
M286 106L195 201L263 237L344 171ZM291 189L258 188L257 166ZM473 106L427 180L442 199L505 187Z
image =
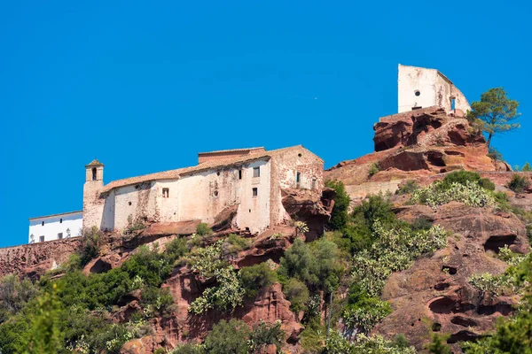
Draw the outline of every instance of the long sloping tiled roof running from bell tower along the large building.
M129 186L130 184L137 184L137 183L142 183L142 182L147 182L147 181L156 181L156 180L174 180L174 179L178 179L180 176L187 174L187 173L195 173L195 172L208 170L208 169L212 169L216 167L223 167L226 165L244 164L246 162L258 160L261 158L271 158L272 156L278 155L282 152L285 152L286 150L292 150L296 148L302 148L302 146L296 145L296 146L291 146L289 148L262 151L262 152L257 152L254 154L237 156L234 158L222 158L218 160L210 160L200 165L195 165L192 167L178 168L176 170L169 170L169 171L163 171L163 172L158 172L158 173L150 173L150 174L145 174L142 176L130 177L130 178L125 178L123 180L112 181L106 184L104 189L102 189L102 193L106 193L109 190L115 189L118 187Z

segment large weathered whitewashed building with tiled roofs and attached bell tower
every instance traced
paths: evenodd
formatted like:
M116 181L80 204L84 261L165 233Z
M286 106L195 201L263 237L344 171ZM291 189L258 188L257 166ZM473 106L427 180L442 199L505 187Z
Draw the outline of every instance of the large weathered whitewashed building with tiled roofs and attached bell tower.
M83 227L121 230L135 221L190 220L212 225L221 215L231 215L231 227L258 233L290 219L283 189L321 195L323 166L301 145L222 150L200 153L199 164L192 167L104 185L104 165L94 160L85 166Z

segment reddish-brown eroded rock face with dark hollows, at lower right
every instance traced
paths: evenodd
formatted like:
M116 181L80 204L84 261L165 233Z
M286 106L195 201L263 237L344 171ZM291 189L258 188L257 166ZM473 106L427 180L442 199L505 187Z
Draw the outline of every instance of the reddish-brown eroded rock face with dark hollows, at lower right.
M436 212L421 205L407 206L398 216L409 221L428 217L454 235L448 238L445 249L419 258L410 269L390 276L382 297L395 311L375 327L376 333L390 338L403 333L421 350L429 341L427 333L448 333L450 344L474 340L492 330L497 317L512 313L517 296L481 294L469 284L469 278L477 273L505 272L505 262L494 257L492 247L486 248L493 237L497 245L509 244L515 252L528 249L519 219L458 203L442 205ZM501 235L505 235L504 241L500 241Z

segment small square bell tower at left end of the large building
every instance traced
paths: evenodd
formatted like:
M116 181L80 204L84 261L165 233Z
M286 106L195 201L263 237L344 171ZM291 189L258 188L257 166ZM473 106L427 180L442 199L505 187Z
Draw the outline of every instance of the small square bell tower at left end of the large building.
M103 204L100 191L104 187L104 164L97 159L85 165L85 184L83 184L83 229L101 227Z

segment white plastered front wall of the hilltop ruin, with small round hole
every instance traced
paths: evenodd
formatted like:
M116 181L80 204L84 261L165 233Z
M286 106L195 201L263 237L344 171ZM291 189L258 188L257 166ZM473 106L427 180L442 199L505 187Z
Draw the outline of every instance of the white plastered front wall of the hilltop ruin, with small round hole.
M437 105L435 99L437 73L435 69L399 65L397 112L408 112L412 107ZM416 96L416 90L419 90L419 96Z

